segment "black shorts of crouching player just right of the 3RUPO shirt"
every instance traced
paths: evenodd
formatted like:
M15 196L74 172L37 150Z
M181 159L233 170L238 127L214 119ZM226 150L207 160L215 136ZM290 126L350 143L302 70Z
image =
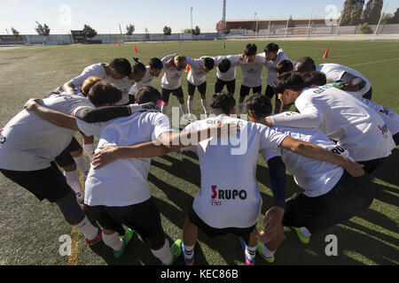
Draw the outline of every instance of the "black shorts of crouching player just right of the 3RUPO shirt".
M374 197L366 176L354 178L344 172L325 195L309 197L294 194L286 200L283 226L306 227L310 233L323 231L368 208Z

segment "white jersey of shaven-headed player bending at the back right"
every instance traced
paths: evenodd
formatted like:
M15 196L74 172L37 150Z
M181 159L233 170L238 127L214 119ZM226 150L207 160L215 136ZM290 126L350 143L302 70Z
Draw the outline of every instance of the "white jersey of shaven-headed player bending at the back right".
M343 73L345 72L351 73L356 77L362 78L366 82L364 88L358 91L348 91L348 94L355 96L357 99L362 98L370 90L370 88L372 88L372 83L369 80L367 80L363 74L344 65L333 64L333 63L320 64L316 66L316 71L325 73L325 77L327 78L327 83L340 80L340 78L342 78Z

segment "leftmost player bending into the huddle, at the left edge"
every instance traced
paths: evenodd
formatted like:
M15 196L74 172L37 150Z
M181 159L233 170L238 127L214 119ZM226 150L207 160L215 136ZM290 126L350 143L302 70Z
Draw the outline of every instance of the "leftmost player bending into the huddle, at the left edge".
M93 87L94 88L94 87ZM116 103L121 91L107 85L90 89L89 100L83 96L51 96L43 104L51 109L75 114L92 108ZM30 111L20 111L1 131L0 172L21 187L25 187L39 201L56 203L66 222L83 233L86 242L101 241L101 231L86 218L73 190L52 161L71 142L74 131L54 126Z

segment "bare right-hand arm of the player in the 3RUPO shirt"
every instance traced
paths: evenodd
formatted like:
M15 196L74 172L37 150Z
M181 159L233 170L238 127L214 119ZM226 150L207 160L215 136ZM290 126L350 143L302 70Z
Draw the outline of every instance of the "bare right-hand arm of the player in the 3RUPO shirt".
M362 168L363 165L357 164L348 157L343 157L332 153L330 150L319 147L311 142L303 142L287 136L283 142L280 143L279 147L291 150L303 157L340 165L353 177L360 177L364 175L364 170Z

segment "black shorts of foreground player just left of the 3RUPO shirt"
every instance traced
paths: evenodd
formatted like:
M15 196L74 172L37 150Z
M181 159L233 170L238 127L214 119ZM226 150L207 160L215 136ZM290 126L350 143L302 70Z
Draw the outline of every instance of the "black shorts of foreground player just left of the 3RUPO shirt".
M143 203L129 206L87 206L87 217L106 230L124 233L122 224L140 234L150 249L160 249L165 244L165 233L160 224L160 210L153 197Z

